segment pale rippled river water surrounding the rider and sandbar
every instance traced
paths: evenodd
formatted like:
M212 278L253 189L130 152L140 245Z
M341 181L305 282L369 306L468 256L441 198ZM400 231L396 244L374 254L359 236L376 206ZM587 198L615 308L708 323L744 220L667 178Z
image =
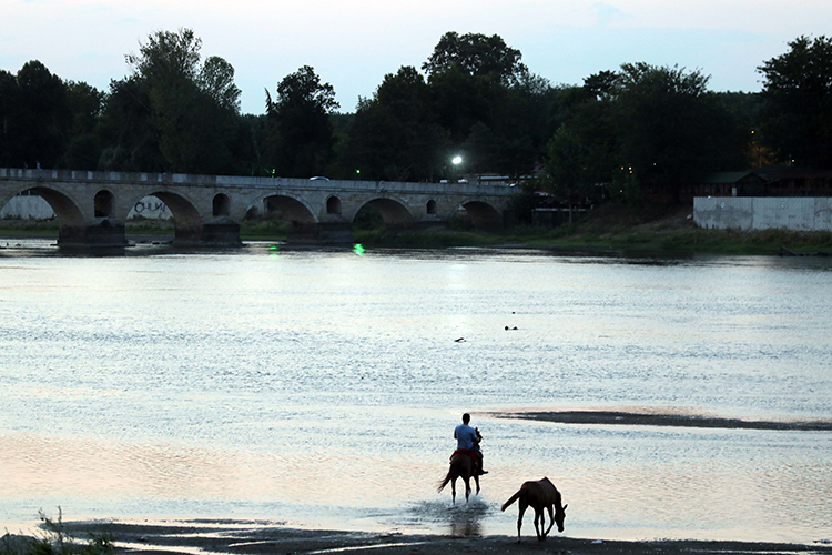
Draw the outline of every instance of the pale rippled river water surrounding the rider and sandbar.
M829 422L830 291L808 258L10 245L0 529L60 506L513 535L499 505L548 476L569 536L831 541L832 432L506 417ZM451 505L466 411L490 473Z

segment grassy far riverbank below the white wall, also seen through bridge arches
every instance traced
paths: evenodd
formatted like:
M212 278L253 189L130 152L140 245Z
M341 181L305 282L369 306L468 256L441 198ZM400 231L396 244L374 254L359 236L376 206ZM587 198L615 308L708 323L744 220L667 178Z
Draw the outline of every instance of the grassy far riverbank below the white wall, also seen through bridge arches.
M434 229L418 232L355 230L353 240L365 248L447 249L455 246L517 248L580 254L629 253L656 255L832 255L832 232L699 229L688 216L690 208L676 210L642 222L626 206L598 209L586 220L559 228L516 228L490 234L473 230ZM126 234L134 241L173 239L170 222L129 222ZM58 238L58 223L0 220L0 239ZM246 241L286 240L280 222L244 221L241 239Z

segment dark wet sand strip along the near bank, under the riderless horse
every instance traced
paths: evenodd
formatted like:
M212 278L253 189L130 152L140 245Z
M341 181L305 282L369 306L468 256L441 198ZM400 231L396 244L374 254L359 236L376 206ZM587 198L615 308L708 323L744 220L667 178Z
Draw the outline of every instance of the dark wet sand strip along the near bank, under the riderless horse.
M372 534L337 531L291 529L245 521L197 521L161 525L101 522L63 523L81 539L89 534L106 534L119 553L152 555L232 553L324 554L372 553L459 555L460 553L557 553L570 555L688 555L688 554L820 554L832 555L832 545L792 545L747 542L607 542L575 539L555 535L538 542L524 526L520 544L509 536L442 536ZM529 523L530 524L530 523ZM568 529L567 529L568 532Z

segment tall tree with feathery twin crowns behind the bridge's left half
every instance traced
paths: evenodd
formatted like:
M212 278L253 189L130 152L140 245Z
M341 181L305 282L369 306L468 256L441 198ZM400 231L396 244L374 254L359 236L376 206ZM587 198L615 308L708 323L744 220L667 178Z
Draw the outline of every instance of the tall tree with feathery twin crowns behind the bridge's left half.
M241 121L234 68L219 57L201 64L201 48L190 29L158 31L125 57L133 73L111 87L121 93L115 119L126 117L140 134L119 133L120 149L108 152L108 164L187 173L237 173L246 165L235 158Z

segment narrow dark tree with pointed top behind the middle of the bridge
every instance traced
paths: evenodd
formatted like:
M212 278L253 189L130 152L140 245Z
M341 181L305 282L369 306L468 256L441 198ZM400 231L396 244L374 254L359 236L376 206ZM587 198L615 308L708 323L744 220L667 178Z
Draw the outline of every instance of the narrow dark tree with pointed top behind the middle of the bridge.
M335 143L329 114L337 108L333 87L310 65L283 78L274 101L266 90L266 163L291 178L325 173Z

